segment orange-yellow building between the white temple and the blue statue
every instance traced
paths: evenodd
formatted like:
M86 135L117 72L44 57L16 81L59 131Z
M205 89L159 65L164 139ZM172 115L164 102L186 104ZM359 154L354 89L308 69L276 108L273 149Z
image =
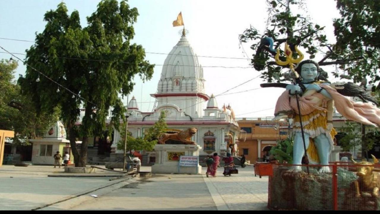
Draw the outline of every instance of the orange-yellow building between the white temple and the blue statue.
M271 118L241 118L237 120L239 135L239 155L251 163L262 161L263 157L277 145L277 141L288 137L287 121L271 121Z

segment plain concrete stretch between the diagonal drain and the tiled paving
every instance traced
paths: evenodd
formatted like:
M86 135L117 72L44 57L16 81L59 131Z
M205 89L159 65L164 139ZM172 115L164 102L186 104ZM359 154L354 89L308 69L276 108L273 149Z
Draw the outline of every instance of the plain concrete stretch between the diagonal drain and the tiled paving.
M201 175L165 174L131 183L75 210L217 210Z

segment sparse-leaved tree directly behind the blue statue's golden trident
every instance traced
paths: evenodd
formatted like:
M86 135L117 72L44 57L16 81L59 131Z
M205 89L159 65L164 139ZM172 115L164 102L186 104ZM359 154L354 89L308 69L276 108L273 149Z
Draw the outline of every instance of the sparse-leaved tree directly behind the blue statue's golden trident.
M302 46L307 49L306 53L310 54L310 59L315 57L318 46L326 46L326 35L322 30L324 27L313 24L307 16L291 13L291 8L304 8L302 0L267 0L269 5L268 24L265 32L261 33L251 26L240 35L241 42L253 41L251 49L255 50L251 64L257 71L262 71L261 78L268 82L283 81L281 71L287 66L279 66L274 61L275 53L268 50L268 47L261 42L263 37L271 37L274 40L274 49L279 48L283 57L283 48L281 44L287 42L293 51L293 56L297 56L294 46ZM281 58L285 61L284 58ZM323 60L324 61L324 60ZM323 64L323 61L320 62Z

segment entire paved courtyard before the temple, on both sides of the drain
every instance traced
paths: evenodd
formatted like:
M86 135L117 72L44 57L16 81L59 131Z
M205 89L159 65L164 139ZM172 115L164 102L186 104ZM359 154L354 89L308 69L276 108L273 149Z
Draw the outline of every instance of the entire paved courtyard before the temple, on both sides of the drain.
M217 177L209 178L204 172L201 175L158 174L150 179L109 181L107 177L47 177L63 171L51 166L3 166L0 167L0 209L30 210L58 201L62 202L43 209L267 209L268 177L255 177L252 166L238 169L239 174L229 177L224 177L223 168L219 168ZM141 171L150 171L150 167L142 167ZM94 192L88 193L92 190Z

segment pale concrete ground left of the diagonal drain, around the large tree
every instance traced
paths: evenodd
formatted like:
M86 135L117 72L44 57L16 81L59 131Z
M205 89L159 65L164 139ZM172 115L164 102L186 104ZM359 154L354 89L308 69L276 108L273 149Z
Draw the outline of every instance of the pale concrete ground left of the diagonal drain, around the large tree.
M53 166L3 165L0 167L0 210L31 210L112 184L109 177L47 177L64 174L63 171ZM102 173L109 174L99 170L99 174Z

